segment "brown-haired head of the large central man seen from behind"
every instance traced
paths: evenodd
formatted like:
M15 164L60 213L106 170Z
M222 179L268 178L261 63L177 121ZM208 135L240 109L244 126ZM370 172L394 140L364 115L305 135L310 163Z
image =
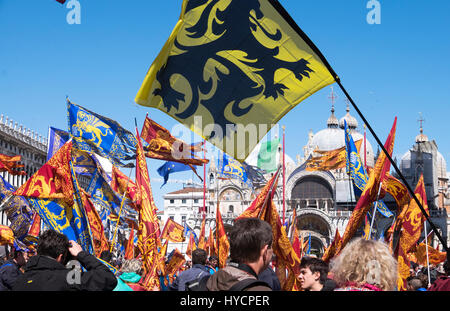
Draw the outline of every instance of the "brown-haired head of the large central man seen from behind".
M235 221L229 234L231 261L253 264L259 273L272 260L272 227L258 218Z

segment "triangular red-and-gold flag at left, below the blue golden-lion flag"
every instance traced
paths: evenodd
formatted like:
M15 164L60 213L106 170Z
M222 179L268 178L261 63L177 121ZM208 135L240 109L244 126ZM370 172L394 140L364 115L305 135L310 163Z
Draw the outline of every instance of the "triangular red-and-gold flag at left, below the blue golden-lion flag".
M66 142L14 195L39 199L63 199L73 205L70 172L72 141Z

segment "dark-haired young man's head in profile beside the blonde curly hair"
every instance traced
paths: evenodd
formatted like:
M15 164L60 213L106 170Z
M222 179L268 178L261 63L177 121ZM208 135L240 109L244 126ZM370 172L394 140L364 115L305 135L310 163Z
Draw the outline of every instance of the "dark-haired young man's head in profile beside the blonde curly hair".
M328 275L328 264L314 257L303 257L300 262L301 286L307 290L321 290Z

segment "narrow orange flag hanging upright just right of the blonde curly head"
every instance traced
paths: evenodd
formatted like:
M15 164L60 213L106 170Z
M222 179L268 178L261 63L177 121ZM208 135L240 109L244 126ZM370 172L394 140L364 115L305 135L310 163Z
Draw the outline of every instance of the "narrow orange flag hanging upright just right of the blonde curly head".
M425 184L423 182L423 174L419 178L414 195L422 204L425 212L428 213L427 195L425 192ZM422 214L422 211L414 199L411 199L408 207L404 210L401 216L402 218L399 220L401 225L400 238L394 251L394 256L397 257L398 262L397 288L398 290L404 291L406 290L406 279L409 276L410 268L408 252L416 245L420 238L425 216Z

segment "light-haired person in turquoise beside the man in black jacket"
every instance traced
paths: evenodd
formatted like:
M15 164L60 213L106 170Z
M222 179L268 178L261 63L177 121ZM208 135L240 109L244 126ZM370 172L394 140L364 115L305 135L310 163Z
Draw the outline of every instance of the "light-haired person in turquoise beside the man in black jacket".
M140 259L125 260L114 291L145 291L145 288L138 284L141 278L142 261Z

